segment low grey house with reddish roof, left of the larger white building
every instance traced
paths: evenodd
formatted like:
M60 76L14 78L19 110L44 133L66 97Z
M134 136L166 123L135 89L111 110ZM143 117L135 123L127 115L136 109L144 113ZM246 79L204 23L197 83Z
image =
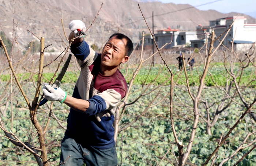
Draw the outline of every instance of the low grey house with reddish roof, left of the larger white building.
M172 43L167 45L165 48L169 49L175 46L185 47L185 45L190 45L190 40L196 39L196 32L195 31L180 31L178 29L171 29L168 27L166 30L158 30L157 34L154 34L155 41L159 48L161 48L166 43ZM142 35L139 36L142 39ZM152 45L152 36L150 34L144 35L144 46ZM142 44L142 41L140 42Z

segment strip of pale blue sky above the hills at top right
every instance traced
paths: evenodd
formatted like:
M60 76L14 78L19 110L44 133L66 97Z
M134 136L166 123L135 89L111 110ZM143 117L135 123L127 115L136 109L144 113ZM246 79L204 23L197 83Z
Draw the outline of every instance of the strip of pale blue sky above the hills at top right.
M163 3L190 4L193 6L205 4L216 0L159 0ZM256 0L220 0L215 3L197 7L200 10L214 9L222 13L239 12L250 13L256 12Z

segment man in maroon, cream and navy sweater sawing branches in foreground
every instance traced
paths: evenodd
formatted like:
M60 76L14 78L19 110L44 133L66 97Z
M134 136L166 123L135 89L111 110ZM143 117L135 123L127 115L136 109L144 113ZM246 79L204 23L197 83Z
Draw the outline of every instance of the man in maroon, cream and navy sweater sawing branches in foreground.
M72 31L69 41L79 35L78 29L85 31L80 20L73 20L69 28ZM43 88L45 99L63 102L71 108L61 142L61 165L118 164L112 125L115 109L127 92L127 83L118 66L128 61L132 50L131 39L119 33L110 36L102 54L95 53L83 38L75 39L71 52L81 73L73 96L60 88L54 90L50 85Z

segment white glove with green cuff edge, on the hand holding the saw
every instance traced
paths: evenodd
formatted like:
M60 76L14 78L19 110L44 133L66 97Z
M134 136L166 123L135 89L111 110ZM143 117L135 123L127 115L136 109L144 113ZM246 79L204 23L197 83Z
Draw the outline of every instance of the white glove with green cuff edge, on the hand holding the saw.
M63 101L67 97L67 92L64 92L61 88L54 89L49 84L45 84L43 87L44 97L49 101L59 101L63 103Z

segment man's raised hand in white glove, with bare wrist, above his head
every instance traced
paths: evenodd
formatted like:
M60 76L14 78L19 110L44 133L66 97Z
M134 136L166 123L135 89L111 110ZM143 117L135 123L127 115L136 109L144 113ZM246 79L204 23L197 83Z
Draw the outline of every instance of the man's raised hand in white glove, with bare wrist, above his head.
M84 23L81 20L72 20L69 23L69 29L71 30L71 33L69 34L68 40L71 42L71 40L73 38L76 38L77 36L80 35L79 30L85 32L86 31L86 27L84 25ZM81 35L79 38L75 39L72 44L75 43L80 43L83 41L83 35Z

